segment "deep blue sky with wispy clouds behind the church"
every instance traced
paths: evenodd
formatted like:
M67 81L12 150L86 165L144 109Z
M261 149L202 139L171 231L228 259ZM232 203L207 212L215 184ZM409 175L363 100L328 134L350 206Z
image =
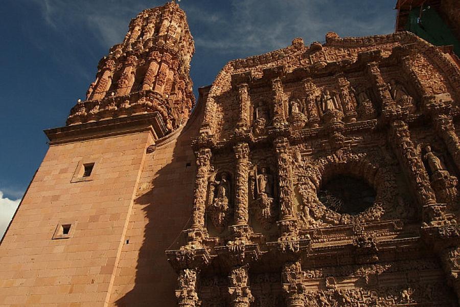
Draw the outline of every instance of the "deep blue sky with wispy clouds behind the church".
M0 237L47 151L42 130L65 124L97 64L129 20L164 0L2 0L0 6ZM195 39L191 75L213 82L232 59L302 37L394 31L396 0L182 0ZM10 201L11 200L11 201ZM13 202L13 203L11 203ZM7 213L8 211L8 213ZM2 222L3 221L3 222Z

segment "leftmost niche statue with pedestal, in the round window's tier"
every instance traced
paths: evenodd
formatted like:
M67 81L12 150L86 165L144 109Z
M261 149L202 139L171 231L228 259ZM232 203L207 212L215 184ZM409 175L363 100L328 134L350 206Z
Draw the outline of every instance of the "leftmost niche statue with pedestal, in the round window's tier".
M214 227L222 231L230 216L231 182L228 173L221 172L210 183L209 214Z

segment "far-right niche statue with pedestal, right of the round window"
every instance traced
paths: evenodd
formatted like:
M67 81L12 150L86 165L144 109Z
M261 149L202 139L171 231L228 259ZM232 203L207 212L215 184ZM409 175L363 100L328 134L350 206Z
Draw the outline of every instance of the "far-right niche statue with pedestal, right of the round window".
M457 178L450 175L441 159L431 150L430 145L425 145L424 152L423 161L430 176L430 183L436 194L436 199L442 203L454 203L457 195Z

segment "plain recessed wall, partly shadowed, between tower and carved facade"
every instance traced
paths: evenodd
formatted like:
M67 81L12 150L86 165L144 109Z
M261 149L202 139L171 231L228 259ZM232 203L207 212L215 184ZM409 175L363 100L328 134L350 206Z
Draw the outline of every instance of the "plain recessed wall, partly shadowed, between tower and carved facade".
M176 305L177 275L165 250L183 244L180 232L190 226L196 173L191 139L198 134L202 104L145 159L110 306Z

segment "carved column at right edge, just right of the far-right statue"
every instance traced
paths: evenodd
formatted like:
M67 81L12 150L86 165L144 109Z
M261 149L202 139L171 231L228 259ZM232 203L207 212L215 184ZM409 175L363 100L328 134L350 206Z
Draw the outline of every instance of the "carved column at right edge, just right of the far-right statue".
M455 133L452 118L444 114L435 115L433 116L433 124L436 132L444 140L455 165L460 169L460 141Z

